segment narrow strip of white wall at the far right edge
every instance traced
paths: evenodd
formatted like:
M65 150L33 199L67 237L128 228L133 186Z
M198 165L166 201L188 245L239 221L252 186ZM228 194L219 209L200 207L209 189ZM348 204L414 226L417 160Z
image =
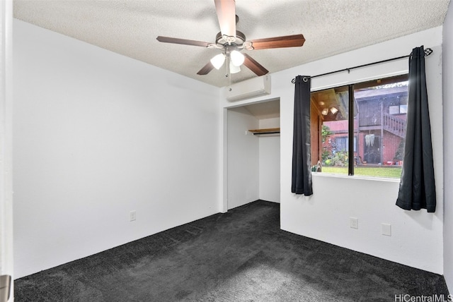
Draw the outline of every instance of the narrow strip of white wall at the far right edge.
M444 76L444 274L453 292L453 4L450 2L443 31Z

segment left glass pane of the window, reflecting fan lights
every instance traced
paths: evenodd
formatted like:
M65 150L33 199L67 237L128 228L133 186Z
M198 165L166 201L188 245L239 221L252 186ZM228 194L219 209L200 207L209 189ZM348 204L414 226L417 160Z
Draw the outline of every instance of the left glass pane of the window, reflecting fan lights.
M348 86L311 93L312 162L323 173L348 174L348 102Z

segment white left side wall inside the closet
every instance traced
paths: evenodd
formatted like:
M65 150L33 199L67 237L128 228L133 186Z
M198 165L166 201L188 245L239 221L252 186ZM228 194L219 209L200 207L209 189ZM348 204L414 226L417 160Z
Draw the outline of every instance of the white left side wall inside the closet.
M258 125L258 119L244 107L228 110L228 209L259 198L259 142L246 133Z

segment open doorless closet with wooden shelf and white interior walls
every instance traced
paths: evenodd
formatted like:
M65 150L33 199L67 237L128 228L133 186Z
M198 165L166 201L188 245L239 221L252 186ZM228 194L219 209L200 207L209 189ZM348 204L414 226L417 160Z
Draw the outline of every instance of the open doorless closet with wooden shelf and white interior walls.
M227 209L280 203L280 98L226 111Z

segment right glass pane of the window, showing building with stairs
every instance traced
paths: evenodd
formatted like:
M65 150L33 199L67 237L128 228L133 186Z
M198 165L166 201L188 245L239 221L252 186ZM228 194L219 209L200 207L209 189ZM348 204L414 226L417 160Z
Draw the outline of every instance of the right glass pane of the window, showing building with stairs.
M354 90L355 175L399 178L406 138L408 82ZM365 87L364 87L365 86Z

